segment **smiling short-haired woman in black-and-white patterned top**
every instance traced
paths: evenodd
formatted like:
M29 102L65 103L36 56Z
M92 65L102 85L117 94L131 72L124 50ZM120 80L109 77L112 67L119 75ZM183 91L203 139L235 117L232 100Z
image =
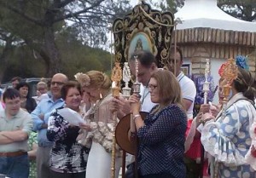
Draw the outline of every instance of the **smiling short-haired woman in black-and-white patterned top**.
M49 160L51 177L84 178L89 149L76 141L80 129L72 124L76 122L67 121L78 120L82 100L79 83L65 83L61 89L61 98L65 100L66 106L52 112L47 130L48 140L55 142ZM67 111L63 112L64 109Z

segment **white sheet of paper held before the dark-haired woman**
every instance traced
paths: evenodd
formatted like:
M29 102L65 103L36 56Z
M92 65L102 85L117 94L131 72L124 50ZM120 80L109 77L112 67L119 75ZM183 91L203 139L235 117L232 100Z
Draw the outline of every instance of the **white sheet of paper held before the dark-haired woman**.
M79 123L85 123L84 119L80 116L79 112L75 112L70 108L63 108L58 110L58 113L67 120L68 123L79 126Z

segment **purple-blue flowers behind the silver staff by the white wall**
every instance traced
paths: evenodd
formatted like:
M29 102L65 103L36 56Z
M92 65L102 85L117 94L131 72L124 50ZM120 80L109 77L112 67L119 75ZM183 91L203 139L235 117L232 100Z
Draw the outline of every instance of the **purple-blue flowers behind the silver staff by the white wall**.
M195 95L195 105L201 105L204 103L204 91L203 84L206 81L205 75L203 74L193 74L191 79L195 83L196 95ZM208 76L207 81L210 83L209 92L208 92L208 101L212 101L213 97L218 89L218 86L215 87L212 76Z

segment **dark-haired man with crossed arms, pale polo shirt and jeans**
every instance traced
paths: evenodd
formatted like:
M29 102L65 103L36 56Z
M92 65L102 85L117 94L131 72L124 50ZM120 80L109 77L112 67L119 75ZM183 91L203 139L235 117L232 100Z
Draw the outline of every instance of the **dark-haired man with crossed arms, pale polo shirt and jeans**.
M20 93L16 89L6 89L3 102L5 109L0 112L0 174L27 178L27 139L32 130L32 118L20 109Z

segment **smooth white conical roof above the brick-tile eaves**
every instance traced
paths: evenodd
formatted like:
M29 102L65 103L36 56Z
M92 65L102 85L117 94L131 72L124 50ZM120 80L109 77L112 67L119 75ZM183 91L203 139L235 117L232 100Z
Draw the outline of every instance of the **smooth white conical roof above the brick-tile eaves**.
M182 9L174 15L182 20L177 29L206 27L223 30L256 32L256 22L239 20L217 6L217 0L185 0Z

